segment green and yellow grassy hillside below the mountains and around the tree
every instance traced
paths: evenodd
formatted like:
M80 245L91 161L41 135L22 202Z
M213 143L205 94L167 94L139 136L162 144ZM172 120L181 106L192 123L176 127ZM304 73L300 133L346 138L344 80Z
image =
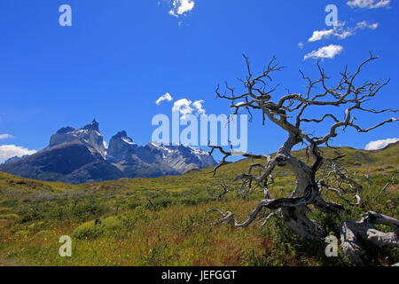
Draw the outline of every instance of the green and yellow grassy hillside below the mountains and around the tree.
M358 220L374 210L399 217L397 184L381 188L398 176L399 144L380 151L342 147L323 149L325 156L345 154L345 164L364 186L362 203L330 216L314 211L327 232L339 236L340 222ZM295 155L306 161L304 151ZM260 228L262 219L246 229L212 226L218 218L208 209L219 208L245 219L262 199L229 193L215 201L206 189L221 178L246 170L252 161L232 163L216 177L211 169L192 170L182 176L123 178L101 183L66 185L0 173L0 265L340 265L344 256L325 256L325 243L302 241L288 232L278 218ZM364 174L370 173L372 185ZM288 196L293 177L285 169L275 172L272 197ZM330 195L331 194L331 195ZM329 193L332 201L338 201ZM339 201L342 203L341 201ZM385 229L385 228L382 228ZM59 237L70 235L73 256L59 256ZM373 264L399 262L399 252L376 251Z

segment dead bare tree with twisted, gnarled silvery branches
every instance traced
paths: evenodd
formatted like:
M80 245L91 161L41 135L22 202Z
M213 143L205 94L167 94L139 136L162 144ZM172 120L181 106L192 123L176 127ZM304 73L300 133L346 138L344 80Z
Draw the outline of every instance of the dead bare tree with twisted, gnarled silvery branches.
M350 205L356 205L361 201L362 186L349 177L347 170L337 165L335 160L342 156L332 160L325 159L319 147L329 146L328 143L337 136L337 130L339 129L354 128L361 133L374 130L389 122L396 122L396 118L389 118L372 127L362 128L356 123L356 117L354 116L355 111L372 114L397 112L391 108L374 110L364 106L364 103L373 99L381 88L387 85L389 80L365 81L357 84L356 78L361 73L362 68L378 58L373 56L372 53L370 53L370 58L364 60L357 67L355 73L350 74L348 66L345 67L344 71L340 73L340 81L334 87L327 86L327 81L330 78L325 74L325 70L320 66L320 63L317 62L319 74L317 80L311 80L300 71L303 80L307 83L304 93L291 93L288 91L286 95L273 100L273 94L277 91L278 85L270 86L272 83L271 75L284 67L278 66L275 63L276 58L273 57L269 65L263 69L262 74L253 75L249 59L245 55L244 58L246 60L247 75L245 80L239 81L243 83L245 91L236 94L235 89L226 83L226 91L223 93L220 92L220 87L217 87L215 91L217 98L230 100L234 114L239 114L239 111L244 110L250 115L251 120L253 118L252 112L259 110L262 114L263 125L266 119L269 119L270 122L275 123L286 131L287 138L273 157L263 154L240 153L234 151L232 147L230 150L225 150L221 146L210 146L210 154L215 150L219 150L223 154L222 162L213 171L214 175L217 170L230 163L227 159L233 155L260 160L261 162L251 164L246 173L235 177L235 181L241 181L249 189L261 185L264 191L264 199L259 202L244 222L238 222L232 212L223 213L220 209L212 209L223 216L215 224L229 223L238 227L246 227L254 221L262 209L266 208L271 209L272 213L265 218L264 224L271 216L278 214L282 217L284 225L294 233L298 233L304 239L321 240L325 236L325 230L316 221L307 217L307 213L310 210L309 205L326 213L340 212L344 209L343 206L332 201L326 201L322 197L323 189L326 189L327 192L331 191L338 194L342 200L347 201ZM321 91L315 93L317 88ZM330 106L328 108L329 111L332 109L331 106L338 106L336 108L343 110L344 115L340 118L339 114L327 113L320 119L305 118L307 111L316 106L326 106L327 108ZM325 125L328 121L332 123L327 128L326 133L321 136L307 133L303 127L305 123L323 122ZM298 144L306 145L306 153L311 158L310 162L302 162L291 154L293 146ZM323 164L328 166L331 171L325 177L317 179L317 172ZM296 186L293 188L293 193L289 198L272 199L270 196L270 175L277 167L286 167L293 172L296 178ZM260 169L261 173L259 175L254 173L254 169ZM330 184L330 182L337 181L337 186ZM344 196L344 193L351 193L352 198L356 199L356 203L349 201Z

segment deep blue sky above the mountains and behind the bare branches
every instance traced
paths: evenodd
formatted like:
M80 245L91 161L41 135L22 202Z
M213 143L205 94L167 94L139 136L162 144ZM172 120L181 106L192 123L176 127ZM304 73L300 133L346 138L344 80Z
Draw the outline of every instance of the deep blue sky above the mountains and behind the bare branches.
M61 4L72 7L72 27L59 26ZM336 4L344 26L331 31L325 25L327 4ZM391 78L391 82L370 106L398 108L397 3L353 0L349 4L0 0L0 160L2 151L10 155L11 145L18 148L15 153L21 153L19 147L40 150L59 128L79 128L93 118L100 122L107 141L117 131L127 130L143 145L155 129L153 115L171 114L179 99L203 100L207 114L230 114L229 102L215 100L215 86L226 80L240 86L237 78L245 75L242 53L250 57L254 72L262 72L273 55L286 66L275 78L280 83L278 98L286 89L304 90L299 69L316 75L316 59L304 59L312 51L320 55L319 49L330 46L325 50L330 58L322 65L332 78L345 64L353 70L373 51L380 59L364 69L363 78ZM323 34L315 31L327 32L315 40ZM349 35L342 36L344 32ZM156 105L167 92L173 101ZM371 126L394 115L356 118L362 126ZM364 148L373 140L398 137L393 123L360 135L347 130L332 144ZM248 128L248 151L274 152L284 138L286 133L270 123L263 127L257 114Z

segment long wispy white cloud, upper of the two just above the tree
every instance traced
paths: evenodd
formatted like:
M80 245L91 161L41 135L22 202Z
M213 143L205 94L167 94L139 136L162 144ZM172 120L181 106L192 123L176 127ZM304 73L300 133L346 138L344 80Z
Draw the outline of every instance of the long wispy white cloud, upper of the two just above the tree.
M308 42L317 42L331 36L337 36L340 39L345 39L348 36L355 35L357 29L370 28L374 30L379 27L379 23L369 24L366 20L358 22L355 28L344 28L345 24L346 23L343 22L331 29L315 30L313 35L310 36Z

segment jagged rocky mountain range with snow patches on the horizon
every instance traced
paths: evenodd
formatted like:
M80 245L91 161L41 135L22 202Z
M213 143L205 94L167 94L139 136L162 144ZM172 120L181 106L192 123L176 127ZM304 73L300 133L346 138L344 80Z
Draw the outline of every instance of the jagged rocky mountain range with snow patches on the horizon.
M138 146L122 130L109 146L93 120L81 129L64 127L51 136L43 150L13 157L0 165L0 171L46 181L81 184L121 177L179 175L188 170L215 165L214 158L198 148L165 146L149 142Z

